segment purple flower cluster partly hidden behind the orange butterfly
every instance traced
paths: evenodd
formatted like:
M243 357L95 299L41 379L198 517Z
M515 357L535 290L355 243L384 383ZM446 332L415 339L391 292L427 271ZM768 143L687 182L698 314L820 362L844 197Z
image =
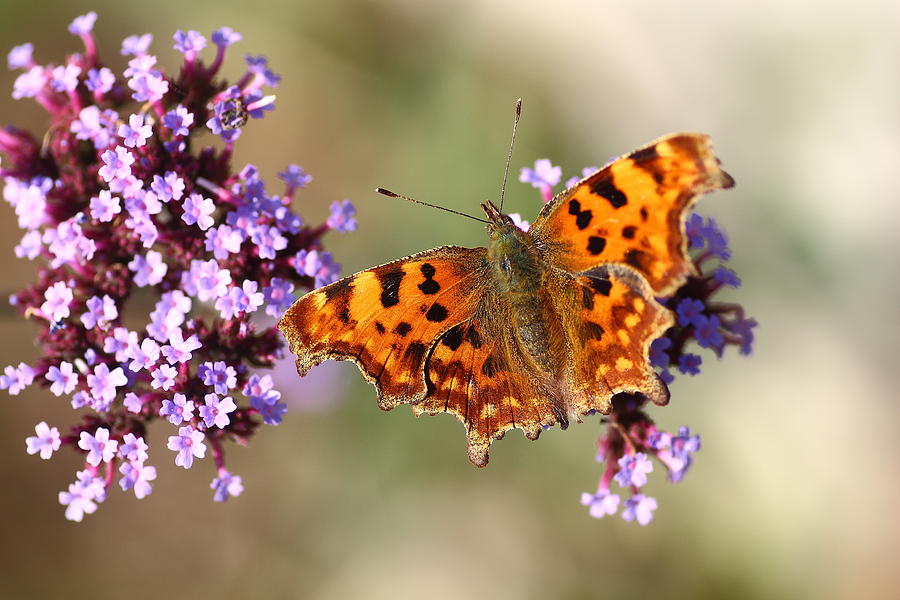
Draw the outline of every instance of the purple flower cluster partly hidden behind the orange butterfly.
M581 176L566 181L566 187L594 171L594 167L583 169ZM540 159L533 169L522 169L520 181L538 188L543 201L548 202L561 178L562 169ZM731 257L724 231L712 218L694 213L687 220L686 234L697 274L670 297L658 298L675 313L676 323L650 345L650 363L667 384L675 379L674 369L684 375L700 373L702 357L689 352L690 345L712 350L719 358L729 345L738 347L741 354L750 354L756 327L756 321L748 318L740 305L713 300L723 288L741 285L734 271L723 264ZM657 429L644 410L646 404L642 396L618 394L613 397L612 412L603 417L607 428L597 441L597 461L605 467L596 493L581 497L592 517L616 514L621 505L623 519L647 525L657 508L656 500L642 492L647 475L653 471L652 459L675 483L681 481L693 454L700 450L700 436L692 435L687 427L680 428L677 435ZM630 493L624 502L610 489L613 483Z

